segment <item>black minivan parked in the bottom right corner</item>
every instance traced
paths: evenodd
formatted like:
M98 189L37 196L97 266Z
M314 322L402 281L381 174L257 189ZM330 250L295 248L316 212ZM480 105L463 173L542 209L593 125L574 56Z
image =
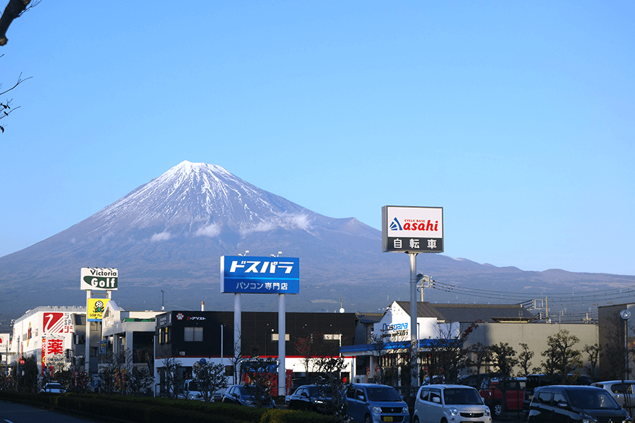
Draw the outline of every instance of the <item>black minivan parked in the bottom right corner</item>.
M633 423L611 394L594 386L540 386L529 405L529 423Z

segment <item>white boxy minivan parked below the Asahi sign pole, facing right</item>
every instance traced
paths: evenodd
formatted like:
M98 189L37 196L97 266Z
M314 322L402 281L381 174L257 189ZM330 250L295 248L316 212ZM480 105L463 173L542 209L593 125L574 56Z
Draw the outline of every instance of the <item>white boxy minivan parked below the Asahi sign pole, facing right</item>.
M492 422L490 408L476 388L465 385L425 385L419 388L413 423Z

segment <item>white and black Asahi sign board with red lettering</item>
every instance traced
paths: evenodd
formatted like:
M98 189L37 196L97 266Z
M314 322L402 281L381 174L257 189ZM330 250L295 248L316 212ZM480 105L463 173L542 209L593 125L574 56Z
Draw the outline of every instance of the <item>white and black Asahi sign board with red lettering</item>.
M442 207L382 207L383 252L443 252Z

